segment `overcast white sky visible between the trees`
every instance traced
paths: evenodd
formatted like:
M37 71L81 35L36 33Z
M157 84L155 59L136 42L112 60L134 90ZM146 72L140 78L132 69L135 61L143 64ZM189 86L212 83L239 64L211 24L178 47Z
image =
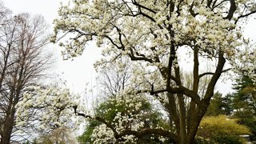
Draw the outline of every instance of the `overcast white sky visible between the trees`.
M50 30L52 30L52 22L54 18L58 16L59 2L62 0L2 0L4 5L13 11L14 14L18 13L30 13L41 14L46 18L46 22L50 24ZM245 30L246 37L256 39L256 20L253 19L248 23ZM67 86L74 90L75 93L82 93L86 86L86 82L94 83L96 72L94 70L94 62L100 58L100 50L94 45L90 45L84 51L82 56L74 58L74 61L62 61L60 48L56 45L50 45L50 49L53 49L58 59L57 72L62 74L62 78L67 81ZM216 90L226 94L231 90L230 81L226 80L226 83L218 82Z

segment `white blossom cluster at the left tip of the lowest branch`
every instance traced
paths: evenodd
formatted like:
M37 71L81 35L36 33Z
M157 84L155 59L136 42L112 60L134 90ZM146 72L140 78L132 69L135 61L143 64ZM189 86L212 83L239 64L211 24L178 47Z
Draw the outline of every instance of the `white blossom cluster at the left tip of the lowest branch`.
M79 122L73 106L78 106L78 102L79 96L71 94L68 89L56 86L30 87L23 94L22 101L18 102L17 126L31 126L41 132L60 126L75 129Z

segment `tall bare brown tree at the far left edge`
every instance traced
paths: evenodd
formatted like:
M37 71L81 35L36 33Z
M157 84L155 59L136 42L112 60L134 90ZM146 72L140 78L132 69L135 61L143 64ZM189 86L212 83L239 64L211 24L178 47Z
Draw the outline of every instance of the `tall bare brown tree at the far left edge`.
M17 103L27 86L36 86L50 66L46 22L29 14L6 16L0 26L0 134L1 143L10 143L15 132Z

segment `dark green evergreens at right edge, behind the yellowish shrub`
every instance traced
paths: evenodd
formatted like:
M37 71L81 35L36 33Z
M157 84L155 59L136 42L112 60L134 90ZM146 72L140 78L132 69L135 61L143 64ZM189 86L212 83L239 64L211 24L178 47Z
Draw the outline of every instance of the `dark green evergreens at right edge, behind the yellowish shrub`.
M249 77L241 76L237 79L234 90L236 92L224 97L218 92L214 94L205 116L230 115L256 134L256 86Z

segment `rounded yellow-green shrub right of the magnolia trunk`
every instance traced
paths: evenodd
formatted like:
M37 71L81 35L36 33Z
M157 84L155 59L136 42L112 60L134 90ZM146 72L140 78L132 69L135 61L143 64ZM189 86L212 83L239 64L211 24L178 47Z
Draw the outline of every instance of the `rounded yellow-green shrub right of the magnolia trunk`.
M242 143L243 139L239 135L250 134L250 130L238 124L238 119L218 115L203 118L197 134L217 143Z

